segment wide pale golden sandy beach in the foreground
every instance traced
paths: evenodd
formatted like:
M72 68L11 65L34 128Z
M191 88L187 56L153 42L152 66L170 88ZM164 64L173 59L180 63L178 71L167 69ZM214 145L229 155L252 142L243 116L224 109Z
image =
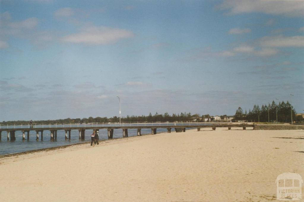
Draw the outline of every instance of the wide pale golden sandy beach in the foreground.
M279 174L304 177L303 130L233 129L2 157L1 201L275 201Z

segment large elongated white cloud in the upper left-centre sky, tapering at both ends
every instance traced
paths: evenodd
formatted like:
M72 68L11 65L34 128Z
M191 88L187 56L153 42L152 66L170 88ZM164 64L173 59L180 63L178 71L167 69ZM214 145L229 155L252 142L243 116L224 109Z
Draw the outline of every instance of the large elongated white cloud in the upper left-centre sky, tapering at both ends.
M62 38L64 42L83 43L88 45L104 45L115 43L123 38L133 37L133 32L125 29L110 27L90 27L80 33L67 35Z

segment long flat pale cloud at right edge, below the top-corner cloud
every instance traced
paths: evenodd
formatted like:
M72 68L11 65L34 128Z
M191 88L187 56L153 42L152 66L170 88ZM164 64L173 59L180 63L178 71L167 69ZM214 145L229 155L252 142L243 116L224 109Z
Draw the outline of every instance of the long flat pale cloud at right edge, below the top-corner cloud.
M263 37L260 44L264 47L304 47L304 36Z

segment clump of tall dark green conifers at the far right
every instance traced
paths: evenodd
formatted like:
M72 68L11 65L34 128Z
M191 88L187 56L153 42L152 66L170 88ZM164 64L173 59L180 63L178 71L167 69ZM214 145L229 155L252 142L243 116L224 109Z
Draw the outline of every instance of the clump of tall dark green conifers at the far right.
M269 116L268 116L269 114ZM255 120L260 122L268 122L269 121L277 121L277 122L291 122L291 117L293 121L303 121L302 116L296 116L296 111L293 106L287 101L279 102L278 104L275 101L272 103L262 104L260 108L259 105L255 104L252 110L249 109L243 111L242 108L238 108L235 115L234 120Z

